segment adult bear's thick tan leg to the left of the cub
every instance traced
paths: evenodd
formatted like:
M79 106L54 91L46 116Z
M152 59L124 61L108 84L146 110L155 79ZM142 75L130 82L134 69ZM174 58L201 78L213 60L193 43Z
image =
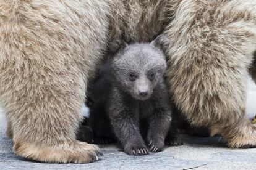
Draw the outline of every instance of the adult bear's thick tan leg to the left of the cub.
M75 134L106 42L106 9L93 0L1 1L0 95L17 155L55 163L101 155Z

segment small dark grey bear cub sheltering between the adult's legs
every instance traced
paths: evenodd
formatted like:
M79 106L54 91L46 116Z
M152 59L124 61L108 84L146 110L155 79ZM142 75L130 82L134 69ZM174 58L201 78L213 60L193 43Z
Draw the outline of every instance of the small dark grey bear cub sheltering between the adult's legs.
M83 130L78 139L93 136L93 141L87 142L95 143L116 139L128 155L160 152L164 141L182 144L171 119L171 99L164 83L163 51L168 43L164 35L150 43L111 42L109 59L88 89L88 124L93 135Z

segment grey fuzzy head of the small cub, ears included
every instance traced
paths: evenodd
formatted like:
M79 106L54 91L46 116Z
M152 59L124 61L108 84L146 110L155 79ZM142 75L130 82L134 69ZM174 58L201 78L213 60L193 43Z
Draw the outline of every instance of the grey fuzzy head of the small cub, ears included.
M139 100L148 99L158 83L162 83L166 70L166 57L163 50L169 39L160 35L150 43L128 45L121 40L110 44L113 52L111 71L115 83L122 90Z

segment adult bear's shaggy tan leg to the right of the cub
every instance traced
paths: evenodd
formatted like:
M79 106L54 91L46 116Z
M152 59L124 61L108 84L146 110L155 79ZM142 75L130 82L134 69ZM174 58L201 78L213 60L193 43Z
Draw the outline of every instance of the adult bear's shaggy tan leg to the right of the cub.
M181 1L166 28L174 103L192 124L222 134L230 147L256 146L256 131L245 117L255 6L254 1Z

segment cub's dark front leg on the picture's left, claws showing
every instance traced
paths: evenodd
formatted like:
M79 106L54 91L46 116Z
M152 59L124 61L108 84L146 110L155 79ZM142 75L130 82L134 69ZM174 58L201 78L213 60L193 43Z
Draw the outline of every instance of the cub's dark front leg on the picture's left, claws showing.
M148 149L140 134L139 115L136 110L131 110L136 103L129 106L124 104L121 97L114 95L109 106L111 126L128 155L147 155Z

